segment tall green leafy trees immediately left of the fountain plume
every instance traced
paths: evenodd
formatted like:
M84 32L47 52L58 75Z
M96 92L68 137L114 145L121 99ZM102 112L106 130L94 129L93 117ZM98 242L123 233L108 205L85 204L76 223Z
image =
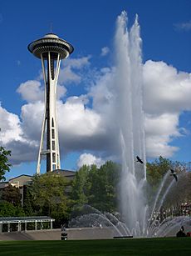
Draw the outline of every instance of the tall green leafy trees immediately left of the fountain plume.
M95 164L84 165L76 172L72 183L71 198L80 206L85 203L102 212L113 212L117 208L117 188L120 177L120 166L106 162L100 168Z

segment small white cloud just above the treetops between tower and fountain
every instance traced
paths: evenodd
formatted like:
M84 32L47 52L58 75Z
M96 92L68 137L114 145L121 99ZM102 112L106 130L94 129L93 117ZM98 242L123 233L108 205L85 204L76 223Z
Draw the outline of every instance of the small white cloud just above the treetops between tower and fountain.
M96 156L92 155L91 153L82 153L80 158L77 161L77 167L81 168L83 165L92 165L96 164L98 168L100 168L100 165L104 164L105 161L101 158L96 158Z

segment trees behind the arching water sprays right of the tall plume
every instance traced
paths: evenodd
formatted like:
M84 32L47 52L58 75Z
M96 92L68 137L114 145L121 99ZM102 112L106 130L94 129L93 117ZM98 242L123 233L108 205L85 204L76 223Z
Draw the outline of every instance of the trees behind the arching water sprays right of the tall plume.
M164 178L164 174L167 173L170 168L173 168L178 175L178 182L174 182L168 190L163 206L164 208L173 208L174 206L179 206L180 203L189 202L191 200L191 173L188 172L186 167L186 163L180 163L178 161L173 162L162 157L154 160L153 163L147 163L147 180L150 184L150 188L147 188L149 201L153 200L155 192ZM174 177L170 175L165 179L159 198L162 198L173 180Z

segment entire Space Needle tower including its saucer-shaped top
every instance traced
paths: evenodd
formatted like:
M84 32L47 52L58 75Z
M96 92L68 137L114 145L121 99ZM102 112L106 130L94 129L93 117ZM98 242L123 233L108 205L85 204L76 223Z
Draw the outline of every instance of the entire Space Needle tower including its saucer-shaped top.
M74 48L70 43L58 38L56 34L47 33L44 38L30 43L28 50L42 60L45 83L45 111L37 160L37 174L39 174L43 155L47 156L47 172L61 168L56 115L56 86L61 59L67 58Z

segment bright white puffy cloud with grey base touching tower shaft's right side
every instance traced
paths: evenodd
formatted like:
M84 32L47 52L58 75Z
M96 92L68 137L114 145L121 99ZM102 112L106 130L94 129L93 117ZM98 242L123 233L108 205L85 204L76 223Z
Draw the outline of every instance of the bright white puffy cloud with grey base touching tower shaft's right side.
M58 107L58 126L61 148L66 151L95 149L105 133L101 118L91 108L86 108L86 97L71 97Z

